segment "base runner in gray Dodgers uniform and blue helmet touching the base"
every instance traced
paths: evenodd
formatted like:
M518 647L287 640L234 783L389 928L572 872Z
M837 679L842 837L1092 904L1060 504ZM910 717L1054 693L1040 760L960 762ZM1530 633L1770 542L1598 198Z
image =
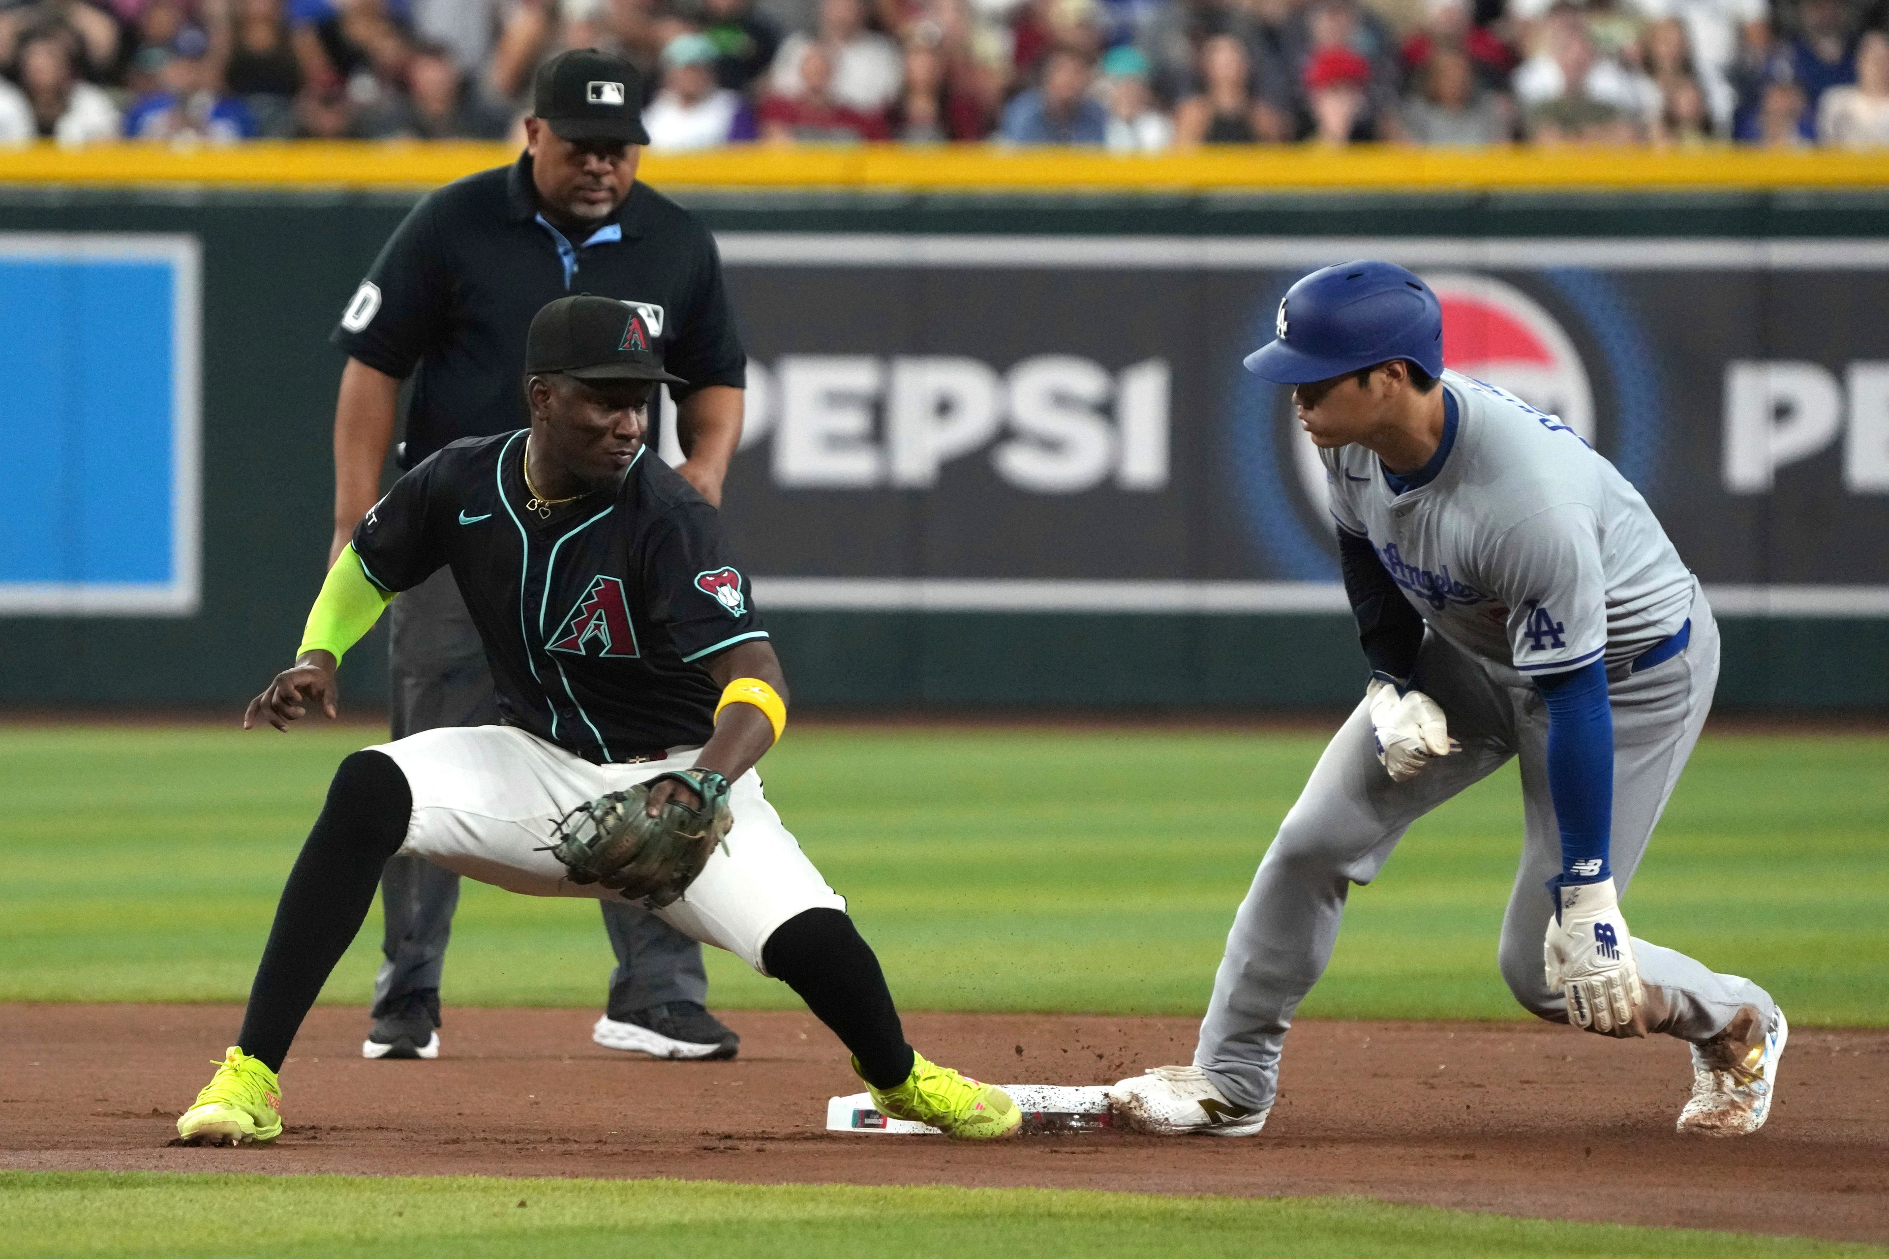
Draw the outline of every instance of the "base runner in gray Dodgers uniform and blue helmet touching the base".
M1275 330L1247 368L1294 387L1319 445L1371 681L1239 906L1194 1063L1122 1080L1116 1112L1147 1133L1258 1133L1351 885L1413 821L1517 757L1509 991L1543 1019L1689 1042L1679 1131L1755 1133L1783 1012L1751 980L1632 936L1619 906L1719 676L1698 581L1574 430L1443 370L1441 308L1411 272L1313 272Z

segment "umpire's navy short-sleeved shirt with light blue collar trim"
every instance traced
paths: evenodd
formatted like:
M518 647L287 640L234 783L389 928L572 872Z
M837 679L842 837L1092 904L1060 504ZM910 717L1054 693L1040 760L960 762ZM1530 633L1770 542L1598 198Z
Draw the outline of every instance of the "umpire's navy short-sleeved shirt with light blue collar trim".
M525 427L525 330L570 293L650 308L650 349L688 381L672 387L678 400L703 385L744 385L748 357L708 228L638 181L616 213L567 236L538 211L525 153L421 198L334 328L349 357L414 376L400 466L459 438Z

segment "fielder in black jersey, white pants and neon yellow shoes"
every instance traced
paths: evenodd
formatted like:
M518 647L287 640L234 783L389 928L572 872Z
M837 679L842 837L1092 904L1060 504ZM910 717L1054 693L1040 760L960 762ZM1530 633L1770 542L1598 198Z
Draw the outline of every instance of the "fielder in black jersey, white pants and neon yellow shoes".
M1018 1131L1001 1089L905 1042L844 898L761 795L754 764L786 725L786 681L720 517L644 445L650 394L674 379L648 344L631 304L546 306L525 353L531 427L453 442L400 478L331 568L297 663L249 704L246 727L285 730L310 706L332 715L340 655L397 591L450 568L502 721L342 761L283 887L242 1032L178 1119L183 1140L281 1133L276 1072L389 857L529 895L621 898L572 878L552 819L644 783L648 817L671 804L733 817L680 898L655 910L667 923L799 993L852 1049L880 1112L973 1140Z

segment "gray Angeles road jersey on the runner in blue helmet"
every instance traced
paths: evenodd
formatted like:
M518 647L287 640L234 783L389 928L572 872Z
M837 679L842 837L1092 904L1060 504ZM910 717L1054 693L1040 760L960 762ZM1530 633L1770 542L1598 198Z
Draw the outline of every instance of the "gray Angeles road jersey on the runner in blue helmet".
M1398 495L1362 445L1322 449L1337 527L1370 538L1422 619L1477 659L1543 676L1632 661L1676 634L1693 574L1653 510L1572 428L1443 372L1456 438Z

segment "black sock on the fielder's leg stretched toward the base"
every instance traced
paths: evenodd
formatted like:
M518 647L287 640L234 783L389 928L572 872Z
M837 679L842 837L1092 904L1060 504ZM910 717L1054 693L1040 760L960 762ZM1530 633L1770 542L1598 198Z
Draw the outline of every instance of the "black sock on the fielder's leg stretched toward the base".
M890 1089L912 1074L912 1048L886 974L850 917L839 910L790 917L767 938L761 965L852 1049L873 1087Z

